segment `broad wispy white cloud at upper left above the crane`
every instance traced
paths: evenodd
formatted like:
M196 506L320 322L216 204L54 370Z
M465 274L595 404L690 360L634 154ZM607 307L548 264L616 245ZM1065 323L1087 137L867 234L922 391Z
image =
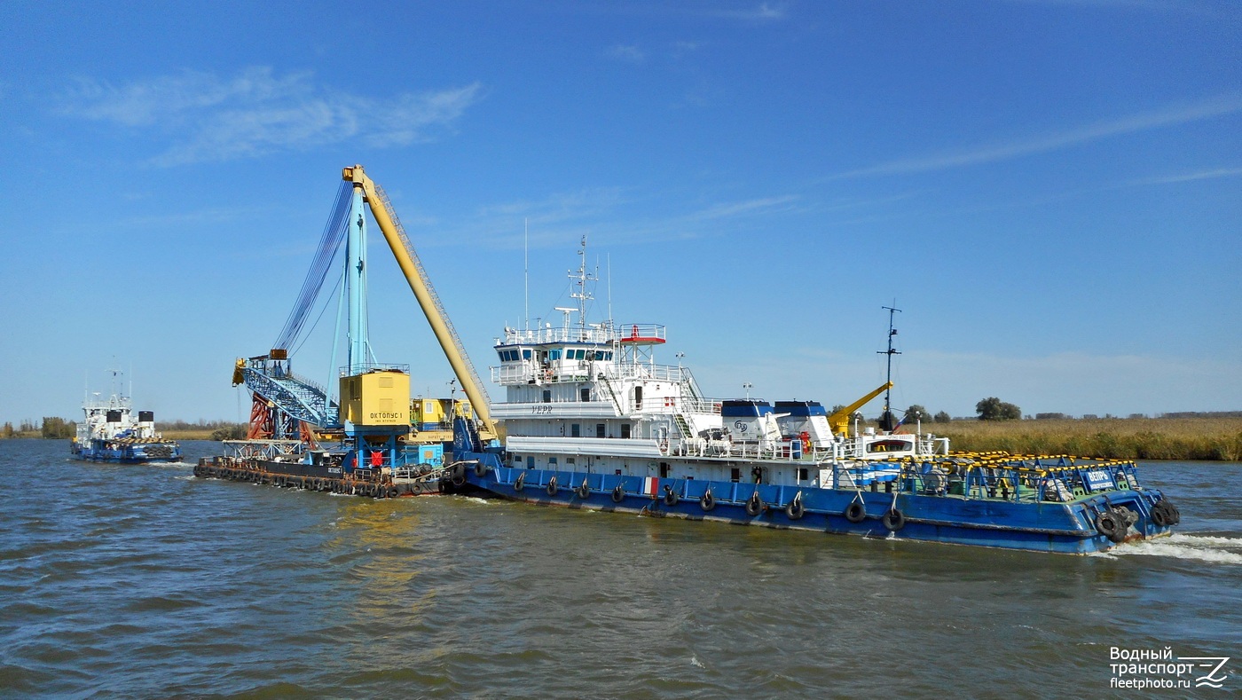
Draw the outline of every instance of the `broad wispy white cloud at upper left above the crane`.
M83 78L60 113L140 129L164 141L158 166L252 158L356 139L402 146L430 140L474 104L478 83L374 98L317 84L308 72L251 67L232 78L186 71L122 86Z

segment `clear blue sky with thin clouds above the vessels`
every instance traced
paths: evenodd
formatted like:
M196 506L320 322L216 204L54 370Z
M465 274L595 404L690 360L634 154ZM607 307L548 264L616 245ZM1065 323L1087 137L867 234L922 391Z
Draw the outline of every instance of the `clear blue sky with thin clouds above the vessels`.
M667 324L658 359L713 396L853 400L895 302L898 407L1242 408L1232 0L7 1L0 24L0 421L76 417L113 365L159 418L243 418L232 361L274 340L354 163L481 367L522 323L529 222L532 316L587 235L597 313ZM371 256L376 354L443 395ZM328 325L299 371L328 375Z

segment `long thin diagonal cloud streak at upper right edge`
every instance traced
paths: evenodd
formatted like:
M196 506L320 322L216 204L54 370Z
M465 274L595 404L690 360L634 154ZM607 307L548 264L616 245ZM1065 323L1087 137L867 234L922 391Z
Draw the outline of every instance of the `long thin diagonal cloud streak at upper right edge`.
M1117 119L1094 122L1083 127L1023 137L1010 141L970 146L956 151L889 160L857 170L840 173L832 179L877 175L909 175L1010 160L1023 155L1047 153L1100 139L1134 134L1164 127L1200 122L1242 112L1242 94L1228 93L1200 102L1179 104L1154 112L1130 114Z

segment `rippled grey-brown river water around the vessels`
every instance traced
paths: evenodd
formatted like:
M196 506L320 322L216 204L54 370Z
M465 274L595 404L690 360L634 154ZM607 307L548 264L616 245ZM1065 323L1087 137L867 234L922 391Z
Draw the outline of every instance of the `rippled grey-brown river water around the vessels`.
M1179 532L1072 557L333 496L195 479L219 446L184 448L109 467L0 441L0 696L1242 691L1238 463L1144 464ZM1119 690L1211 669L1134 673L1114 647L1230 659L1221 689Z

